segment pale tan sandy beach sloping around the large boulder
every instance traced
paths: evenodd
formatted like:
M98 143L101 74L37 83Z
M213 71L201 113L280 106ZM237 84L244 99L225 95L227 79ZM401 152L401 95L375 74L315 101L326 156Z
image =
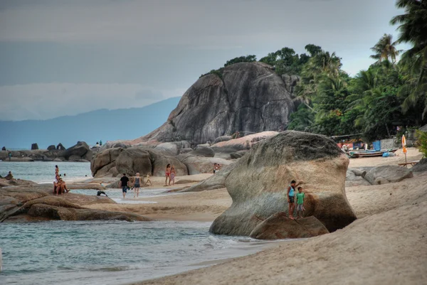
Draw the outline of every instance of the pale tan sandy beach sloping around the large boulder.
M416 149L409 149L406 159L421 157ZM354 158L349 168L402 161L402 154ZM199 181L209 175L181 179ZM155 186L162 184L159 178L154 181ZM179 186L183 185L187 183ZM358 220L342 230L278 242L257 254L139 284L426 284L427 173L399 183L348 187L346 193ZM157 203L88 207L130 211L157 220L212 221L231 205L225 188L142 200Z

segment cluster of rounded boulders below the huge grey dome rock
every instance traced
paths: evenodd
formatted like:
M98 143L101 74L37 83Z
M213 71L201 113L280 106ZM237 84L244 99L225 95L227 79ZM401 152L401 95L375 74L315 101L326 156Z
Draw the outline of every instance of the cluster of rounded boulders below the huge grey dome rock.
M193 147L188 141L166 142L155 146L107 142L93 156L90 168L93 177L116 177L119 173L164 176L168 163L175 167L177 176L212 173L214 163L224 168L236 158L241 158L259 141L276 134L275 131L266 131L237 139L231 139L230 136L216 144Z

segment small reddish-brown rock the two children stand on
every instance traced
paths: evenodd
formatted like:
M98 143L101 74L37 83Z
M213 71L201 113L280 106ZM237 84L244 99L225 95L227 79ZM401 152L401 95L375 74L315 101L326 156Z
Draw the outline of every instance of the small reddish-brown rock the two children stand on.
M291 220L280 212L271 215L253 229L250 237L258 240L280 240L317 237L329 233L325 225L315 217Z

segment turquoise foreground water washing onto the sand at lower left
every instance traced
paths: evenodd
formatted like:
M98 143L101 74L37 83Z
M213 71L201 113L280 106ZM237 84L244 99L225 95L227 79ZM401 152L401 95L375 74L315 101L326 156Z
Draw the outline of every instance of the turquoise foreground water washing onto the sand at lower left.
M0 225L0 284L123 284L256 252L209 222L37 222Z

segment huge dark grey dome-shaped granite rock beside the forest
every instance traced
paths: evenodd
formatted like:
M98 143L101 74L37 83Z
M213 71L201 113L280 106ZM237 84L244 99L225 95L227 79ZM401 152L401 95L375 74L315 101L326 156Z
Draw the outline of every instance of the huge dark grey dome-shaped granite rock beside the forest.
M201 77L187 90L167 122L139 141L186 139L194 144L288 126L294 110L291 86L265 63L236 63L221 77ZM293 83L292 83L293 84Z

